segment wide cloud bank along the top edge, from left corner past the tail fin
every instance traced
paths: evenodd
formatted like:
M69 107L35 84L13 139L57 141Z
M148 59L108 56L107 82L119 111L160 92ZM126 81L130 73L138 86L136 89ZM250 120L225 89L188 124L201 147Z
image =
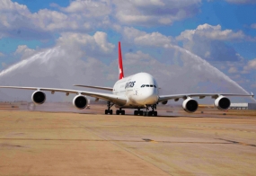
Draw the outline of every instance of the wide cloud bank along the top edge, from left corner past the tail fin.
M31 13L26 5L0 1L0 38L46 40L59 32L88 32L122 24L170 25L199 13L201 0L75 0L56 10ZM117 22L119 21L119 22Z

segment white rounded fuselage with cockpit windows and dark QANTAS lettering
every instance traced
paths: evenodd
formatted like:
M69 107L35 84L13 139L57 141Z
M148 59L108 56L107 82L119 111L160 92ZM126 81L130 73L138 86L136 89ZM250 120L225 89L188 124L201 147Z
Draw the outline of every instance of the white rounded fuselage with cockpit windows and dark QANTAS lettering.
M123 108L145 108L158 101L158 85L152 75L139 73L117 81L113 94L127 98Z

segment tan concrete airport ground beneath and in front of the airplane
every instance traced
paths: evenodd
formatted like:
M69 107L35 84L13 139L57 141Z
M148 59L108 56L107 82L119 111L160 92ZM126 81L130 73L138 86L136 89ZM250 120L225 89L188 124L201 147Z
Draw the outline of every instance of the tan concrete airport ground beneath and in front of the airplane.
M256 175L256 111L159 108L160 117L136 117L104 108L5 107L0 175Z

